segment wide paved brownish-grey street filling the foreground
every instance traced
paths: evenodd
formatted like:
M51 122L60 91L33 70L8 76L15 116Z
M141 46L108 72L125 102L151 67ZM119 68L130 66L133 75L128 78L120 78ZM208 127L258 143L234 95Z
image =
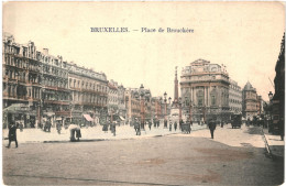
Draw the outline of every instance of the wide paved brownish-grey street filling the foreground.
M217 128L132 140L3 147L7 185L279 185L260 128Z

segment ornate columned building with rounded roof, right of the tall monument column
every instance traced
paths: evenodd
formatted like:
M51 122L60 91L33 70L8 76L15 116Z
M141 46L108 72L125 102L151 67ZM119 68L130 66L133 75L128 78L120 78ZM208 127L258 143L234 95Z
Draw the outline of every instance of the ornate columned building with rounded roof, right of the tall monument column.
M180 91L184 103L183 114L193 121L217 118L230 119L229 75L226 67L198 59L182 70Z

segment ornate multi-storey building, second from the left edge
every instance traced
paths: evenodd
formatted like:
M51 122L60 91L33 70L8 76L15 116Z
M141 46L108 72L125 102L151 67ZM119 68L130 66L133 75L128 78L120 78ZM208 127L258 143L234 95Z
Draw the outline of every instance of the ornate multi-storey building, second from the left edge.
M42 105L41 120L48 119L62 121L68 118L69 113L69 89L68 89L68 72L66 62L61 56L48 54L48 50L44 48L43 53L37 52L38 59L42 64Z

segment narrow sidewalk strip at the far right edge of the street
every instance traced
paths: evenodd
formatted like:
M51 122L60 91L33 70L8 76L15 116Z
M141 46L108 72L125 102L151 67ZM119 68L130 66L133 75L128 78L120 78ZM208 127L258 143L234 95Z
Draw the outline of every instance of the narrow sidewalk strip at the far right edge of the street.
M266 141L266 149L273 157L284 158L285 142L280 140L280 135L268 133L268 129L263 129Z

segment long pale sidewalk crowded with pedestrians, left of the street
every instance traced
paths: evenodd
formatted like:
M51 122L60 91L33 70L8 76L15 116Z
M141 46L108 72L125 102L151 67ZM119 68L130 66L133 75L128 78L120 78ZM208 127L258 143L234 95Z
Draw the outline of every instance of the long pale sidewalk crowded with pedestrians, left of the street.
M198 125L194 124L191 127L191 131L206 129L205 125ZM141 135L135 135L135 130L133 127L130 125L117 125L117 135L113 136L113 134L108 131L108 133L105 133L102 131L101 125L97 125L94 128L81 128L81 136L80 141L103 141L103 140L128 140L128 139L142 139L142 138L151 138L151 136L163 136L163 135L169 135L175 133L182 133L179 129L177 131L174 130L174 125L172 131L169 129L163 129L163 124L160 125L160 128L154 128L152 125L151 130L148 127L145 127L145 131L141 131ZM2 138L8 136L8 130L3 129L3 135ZM51 132L44 132L41 129L24 129L23 132L20 132L20 130L16 130L16 139L18 143L53 143L53 142L69 142L69 130L62 129L61 134L57 133L55 128L51 129ZM186 134L187 135L187 134ZM8 144L8 140L3 140L3 144ZM12 143L13 144L13 143Z

